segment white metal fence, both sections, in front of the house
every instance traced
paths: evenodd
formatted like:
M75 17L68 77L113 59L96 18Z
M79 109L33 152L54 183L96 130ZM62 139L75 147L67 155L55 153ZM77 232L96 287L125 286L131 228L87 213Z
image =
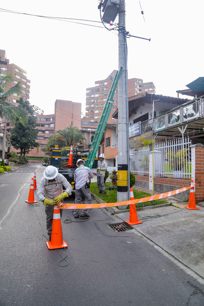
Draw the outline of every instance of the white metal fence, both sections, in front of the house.
M130 149L130 170L148 175L149 146ZM188 137L154 143L154 176L188 179L191 176L191 141Z

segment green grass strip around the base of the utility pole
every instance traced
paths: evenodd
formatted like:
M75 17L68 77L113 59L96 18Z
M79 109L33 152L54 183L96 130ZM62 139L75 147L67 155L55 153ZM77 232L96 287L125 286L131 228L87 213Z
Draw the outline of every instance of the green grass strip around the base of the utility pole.
M95 182L95 183L91 183L90 191L91 193L95 193L97 197L99 197L106 203L117 202L117 186L113 185L112 182L106 182L105 188L106 188L105 194L97 194L99 190L97 187L97 183ZM143 197L151 195L150 193L136 190L136 189L133 189L133 194L134 194L135 199L139 199L139 198L143 198ZM164 204L164 203L168 203L168 201L160 199L160 200L154 200L154 201L149 201L149 202L136 203L136 208L145 207L145 206L154 206L154 205L159 205L159 204ZM118 207L118 209L119 208L120 207Z

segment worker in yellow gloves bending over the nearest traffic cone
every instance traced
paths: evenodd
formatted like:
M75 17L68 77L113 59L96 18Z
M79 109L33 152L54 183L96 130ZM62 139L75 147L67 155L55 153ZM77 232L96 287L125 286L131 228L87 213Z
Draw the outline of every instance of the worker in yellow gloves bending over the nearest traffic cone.
M62 185L65 191L63 192ZM65 179L64 175L58 173L54 166L47 166L43 172L43 177L38 186L38 199L45 205L46 228L49 241L52 234L54 206L62 199L71 195L72 187ZM60 210L62 216L62 210Z

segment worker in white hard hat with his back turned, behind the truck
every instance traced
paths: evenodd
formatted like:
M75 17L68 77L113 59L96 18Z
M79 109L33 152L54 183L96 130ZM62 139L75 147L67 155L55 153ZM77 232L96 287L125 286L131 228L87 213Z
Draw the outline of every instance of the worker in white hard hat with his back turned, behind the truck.
M90 180L92 179L93 172L90 168L84 166L85 162L82 159L77 161L77 169L74 171L74 182L75 182L75 204L82 203L82 196L84 196L84 204L91 202L90 194ZM74 218L79 216L89 218L88 209L74 209Z

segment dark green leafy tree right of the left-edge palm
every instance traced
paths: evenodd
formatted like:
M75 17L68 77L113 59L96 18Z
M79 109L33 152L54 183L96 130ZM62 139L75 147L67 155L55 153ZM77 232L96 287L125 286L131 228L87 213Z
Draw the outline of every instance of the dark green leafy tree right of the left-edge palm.
M38 147L36 142L38 130L36 126L36 111L29 101L23 101L22 98L18 100L18 108L20 110L27 111L29 113L28 122L25 125L18 120L15 123L15 127L11 131L11 143L15 149L20 149L20 160L22 162L23 157L30 152L34 147ZM24 159L23 159L24 160Z

